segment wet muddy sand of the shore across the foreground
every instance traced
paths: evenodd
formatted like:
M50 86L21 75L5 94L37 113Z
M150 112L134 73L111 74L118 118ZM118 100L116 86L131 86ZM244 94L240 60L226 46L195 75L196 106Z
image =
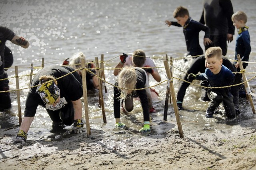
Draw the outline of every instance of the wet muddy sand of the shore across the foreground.
M20 144L11 143L17 117L1 113L1 120L16 123L1 126L0 169L256 169L256 119L245 100L247 109L236 119L206 119L200 110L180 111L184 138L169 105L167 121L162 111L151 114L148 134L138 132L142 113L122 114L128 129L115 129L107 114L107 124L91 122L89 137L86 128L74 134L72 127L32 126L27 142ZM95 119L103 122L100 116Z

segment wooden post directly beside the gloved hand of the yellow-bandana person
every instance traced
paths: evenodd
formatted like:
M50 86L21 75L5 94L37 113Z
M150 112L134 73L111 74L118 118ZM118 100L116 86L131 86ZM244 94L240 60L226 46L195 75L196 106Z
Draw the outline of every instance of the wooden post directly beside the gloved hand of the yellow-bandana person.
M82 68L85 68L84 59L82 59ZM85 69L82 69L82 83L83 83L84 113L85 113L86 132L87 132L87 136L90 136L91 135L91 129L90 129L90 120L89 120L87 85L86 85L86 70Z

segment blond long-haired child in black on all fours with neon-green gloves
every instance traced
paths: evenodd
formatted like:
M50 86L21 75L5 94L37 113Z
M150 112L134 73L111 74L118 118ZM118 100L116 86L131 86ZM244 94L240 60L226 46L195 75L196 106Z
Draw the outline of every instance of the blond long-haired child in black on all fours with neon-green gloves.
M117 88L116 86L120 87ZM116 127L125 127L125 124L120 120L120 101L125 111L133 110L133 98L139 97L143 109L144 126L140 132L150 131L149 122L149 104L148 98L151 97L150 89L143 90L127 90L127 89L140 89L149 87L148 76L142 68L126 66L118 76L118 81L114 86L114 116L116 118ZM123 89L125 88L125 89Z

